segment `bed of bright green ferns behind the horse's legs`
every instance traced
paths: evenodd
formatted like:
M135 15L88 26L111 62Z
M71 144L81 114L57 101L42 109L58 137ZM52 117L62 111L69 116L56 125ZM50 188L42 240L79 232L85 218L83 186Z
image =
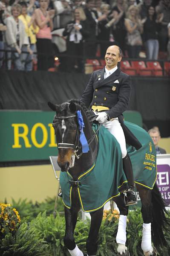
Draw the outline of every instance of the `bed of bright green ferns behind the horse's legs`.
M18 202L13 200L12 204L19 211L22 224L14 234L6 231L0 240L0 256L70 256L63 244L65 218L58 212L56 212L56 217L52 214L55 198L47 198L41 204L32 204L32 201L27 202L21 199ZM59 212L64 211L61 198L58 198L57 209ZM137 208L130 211L128 215L126 245L131 256L143 256L141 250L143 220L140 210ZM104 215L98 236L96 256L117 256L117 217L118 214L108 214L108 212ZM76 244L83 252L86 252L89 227L89 219L81 221L78 218L74 236ZM157 248L158 256L167 256L170 252L170 232L164 235L167 246Z

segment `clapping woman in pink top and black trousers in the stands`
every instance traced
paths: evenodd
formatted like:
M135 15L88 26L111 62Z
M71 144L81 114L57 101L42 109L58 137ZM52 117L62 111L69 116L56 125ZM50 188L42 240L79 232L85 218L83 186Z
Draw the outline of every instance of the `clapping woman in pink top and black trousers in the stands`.
M52 47L52 18L54 10L47 11L49 0L40 0L40 8L35 10L35 20L40 30L37 33L37 69L48 70L54 67L54 52Z

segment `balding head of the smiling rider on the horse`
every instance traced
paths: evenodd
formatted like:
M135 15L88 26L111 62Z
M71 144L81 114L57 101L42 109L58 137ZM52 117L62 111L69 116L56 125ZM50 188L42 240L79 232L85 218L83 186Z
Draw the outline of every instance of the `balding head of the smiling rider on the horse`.
M104 59L106 62L106 68L108 70L111 70L112 68L116 67L118 62L121 61L119 47L116 45L110 46L106 51Z

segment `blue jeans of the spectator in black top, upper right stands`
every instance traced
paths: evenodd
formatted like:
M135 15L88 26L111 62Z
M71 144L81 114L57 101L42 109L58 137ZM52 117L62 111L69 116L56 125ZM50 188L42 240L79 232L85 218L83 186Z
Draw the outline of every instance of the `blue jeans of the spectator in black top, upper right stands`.
M147 58L150 60L158 59L159 42L156 39L149 39L146 41Z

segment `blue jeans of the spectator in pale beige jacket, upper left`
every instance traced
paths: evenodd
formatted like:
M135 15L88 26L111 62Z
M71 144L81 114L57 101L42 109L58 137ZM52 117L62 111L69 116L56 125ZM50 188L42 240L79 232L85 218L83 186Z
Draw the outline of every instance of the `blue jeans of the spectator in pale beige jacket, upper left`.
M6 50L16 51L14 47L6 45ZM23 70L23 65L20 60L20 55L17 52L7 52L7 68L11 70L12 61L14 63L14 70Z

